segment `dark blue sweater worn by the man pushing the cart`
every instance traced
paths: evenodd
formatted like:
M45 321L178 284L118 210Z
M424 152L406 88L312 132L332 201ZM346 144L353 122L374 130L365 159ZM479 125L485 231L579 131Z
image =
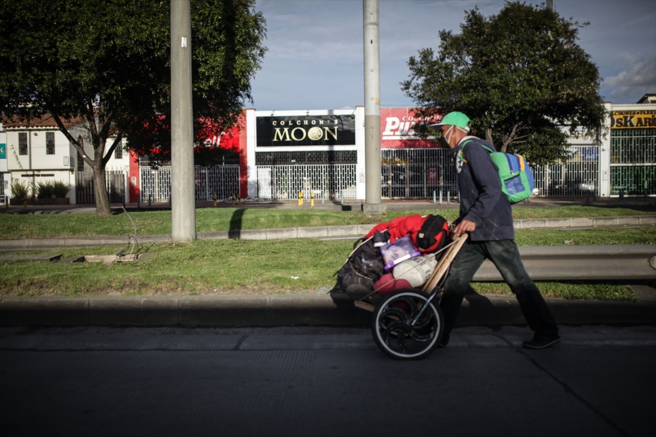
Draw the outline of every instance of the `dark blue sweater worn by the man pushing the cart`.
M451 151L460 190L459 220L476 223L469 234L472 241L514 240L510 202L501 191L497 166L481 144L495 150L492 143L468 136Z

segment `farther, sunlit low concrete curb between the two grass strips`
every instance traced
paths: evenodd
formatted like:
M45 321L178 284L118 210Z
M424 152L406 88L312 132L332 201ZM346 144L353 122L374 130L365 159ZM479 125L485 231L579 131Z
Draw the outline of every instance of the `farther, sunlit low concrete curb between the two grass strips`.
M564 227L595 227L595 226L635 226L656 225L656 216L626 216L597 218L542 218L518 219L514 221L515 229L554 229ZM289 227L279 229L243 229L234 231L218 231L198 233L203 240L218 240L226 238L241 238L243 240L274 240L280 238L331 238L354 237L365 235L373 227L367 225ZM169 242L171 235L144 235L138 237L141 243ZM0 240L2 250L88 247L88 246L121 246L126 244L127 237L87 237L87 238L23 238L20 240Z

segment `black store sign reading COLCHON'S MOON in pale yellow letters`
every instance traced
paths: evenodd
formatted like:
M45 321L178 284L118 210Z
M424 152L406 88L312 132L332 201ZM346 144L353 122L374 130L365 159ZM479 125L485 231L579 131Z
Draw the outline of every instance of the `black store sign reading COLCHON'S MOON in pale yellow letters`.
M355 115L257 117L257 146L355 145Z

